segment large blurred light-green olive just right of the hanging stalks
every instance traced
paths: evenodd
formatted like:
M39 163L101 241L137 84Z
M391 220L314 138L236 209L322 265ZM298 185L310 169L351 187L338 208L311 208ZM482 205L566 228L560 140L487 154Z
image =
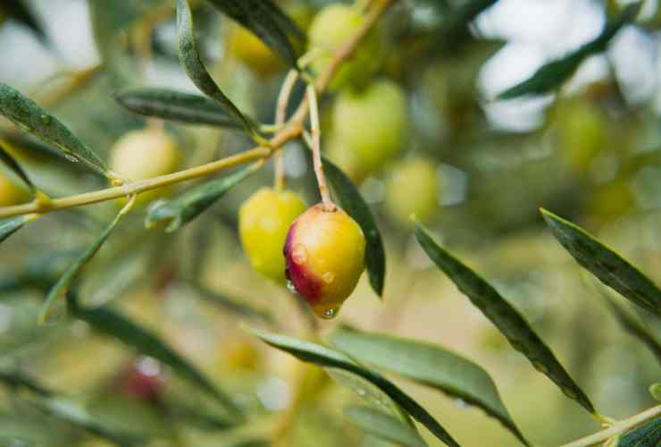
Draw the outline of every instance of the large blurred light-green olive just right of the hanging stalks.
M404 146L408 114L404 91L392 81L378 80L366 89L343 90L333 107L336 143L356 154L364 172L380 168Z

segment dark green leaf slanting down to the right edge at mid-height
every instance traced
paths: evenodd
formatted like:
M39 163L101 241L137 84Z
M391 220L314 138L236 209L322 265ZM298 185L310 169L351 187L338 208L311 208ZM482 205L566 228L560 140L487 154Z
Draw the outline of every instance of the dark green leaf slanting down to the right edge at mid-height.
M636 267L581 227L542 209L548 228L578 263L632 303L661 316L661 291Z

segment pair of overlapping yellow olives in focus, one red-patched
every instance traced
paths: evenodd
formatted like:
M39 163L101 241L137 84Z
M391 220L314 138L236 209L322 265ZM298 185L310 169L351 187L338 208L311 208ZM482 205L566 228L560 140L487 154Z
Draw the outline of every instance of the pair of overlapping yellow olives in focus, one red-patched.
M292 191L258 190L238 213L241 243L257 272L289 282L316 316L332 318L363 273L364 234L339 207L305 208Z

